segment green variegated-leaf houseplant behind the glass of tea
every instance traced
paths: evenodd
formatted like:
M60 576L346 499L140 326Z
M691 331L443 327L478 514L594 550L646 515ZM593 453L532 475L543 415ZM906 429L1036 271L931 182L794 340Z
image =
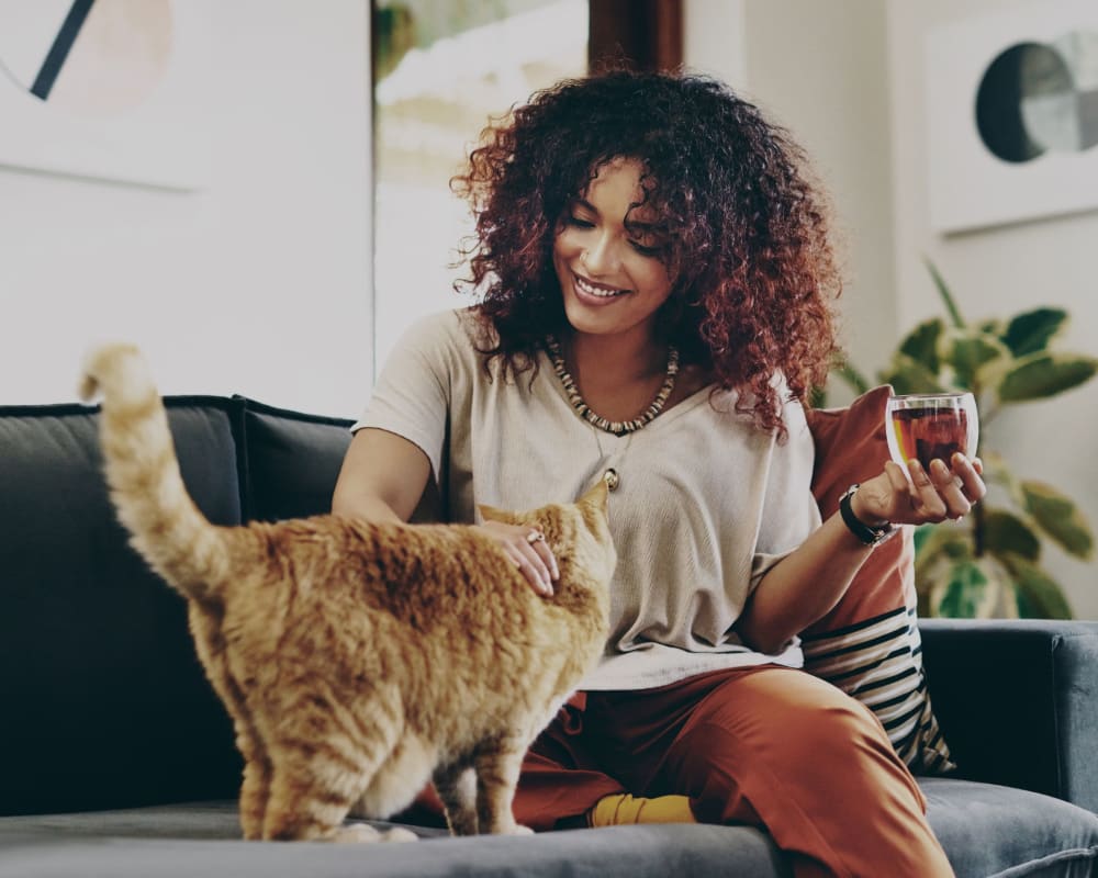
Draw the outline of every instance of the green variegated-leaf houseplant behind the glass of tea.
M1016 476L991 447L1006 406L1045 399L1086 383L1098 359L1053 350L1067 313L1039 307L1009 319L965 320L932 262L927 268L948 320L934 317L899 344L878 383L897 394L971 391L981 421L979 457L988 497L960 522L916 532L916 586L926 616L1071 618L1061 585L1041 566L1043 543L1089 560L1094 532L1068 496ZM837 374L855 392L870 382L850 363Z

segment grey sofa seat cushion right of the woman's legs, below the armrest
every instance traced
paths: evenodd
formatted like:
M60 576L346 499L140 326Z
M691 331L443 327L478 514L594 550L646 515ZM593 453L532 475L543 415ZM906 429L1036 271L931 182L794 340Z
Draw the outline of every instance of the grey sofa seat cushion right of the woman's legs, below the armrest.
M1087 878L1098 815L1040 792L921 777L930 825L957 878Z

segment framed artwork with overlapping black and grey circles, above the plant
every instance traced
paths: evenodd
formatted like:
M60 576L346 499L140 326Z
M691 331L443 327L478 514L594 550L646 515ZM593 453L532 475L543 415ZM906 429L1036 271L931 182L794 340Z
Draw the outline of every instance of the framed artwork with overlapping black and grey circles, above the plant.
M935 230L1098 209L1098 3L937 29L926 75Z

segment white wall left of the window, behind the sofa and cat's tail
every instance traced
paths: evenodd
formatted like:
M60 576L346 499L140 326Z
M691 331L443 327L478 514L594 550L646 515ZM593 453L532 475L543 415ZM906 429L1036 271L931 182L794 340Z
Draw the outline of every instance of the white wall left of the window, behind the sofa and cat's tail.
M75 398L89 342L126 338L165 393L357 415L372 381L369 3L186 2L209 16L209 185L0 168L0 404Z

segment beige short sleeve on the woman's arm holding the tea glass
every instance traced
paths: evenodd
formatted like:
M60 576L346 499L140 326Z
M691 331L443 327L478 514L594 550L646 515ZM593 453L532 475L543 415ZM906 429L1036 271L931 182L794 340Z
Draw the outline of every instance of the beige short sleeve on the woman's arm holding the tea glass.
M791 401L782 412L788 436L775 442L770 459L766 495L759 538L751 563L751 588L785 555L820 526L819 507L811 493L816 447L800 403Z

